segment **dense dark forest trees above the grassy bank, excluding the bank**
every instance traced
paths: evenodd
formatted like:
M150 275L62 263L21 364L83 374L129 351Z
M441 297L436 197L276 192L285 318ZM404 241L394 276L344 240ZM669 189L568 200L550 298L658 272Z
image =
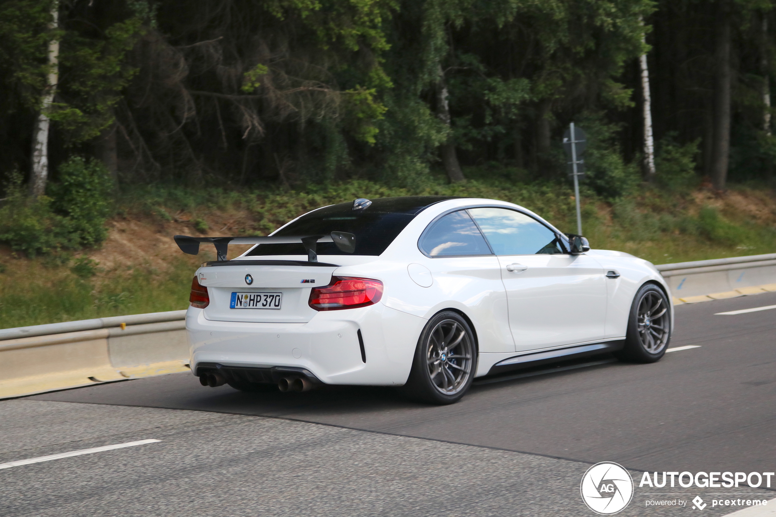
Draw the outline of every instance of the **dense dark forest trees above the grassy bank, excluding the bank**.
M119 182L550 179L585 117L646 179L661 140L702 138L716 188L776 161L774 0L59 0L54 29L51 2L0 2L0 174L91 150Z

